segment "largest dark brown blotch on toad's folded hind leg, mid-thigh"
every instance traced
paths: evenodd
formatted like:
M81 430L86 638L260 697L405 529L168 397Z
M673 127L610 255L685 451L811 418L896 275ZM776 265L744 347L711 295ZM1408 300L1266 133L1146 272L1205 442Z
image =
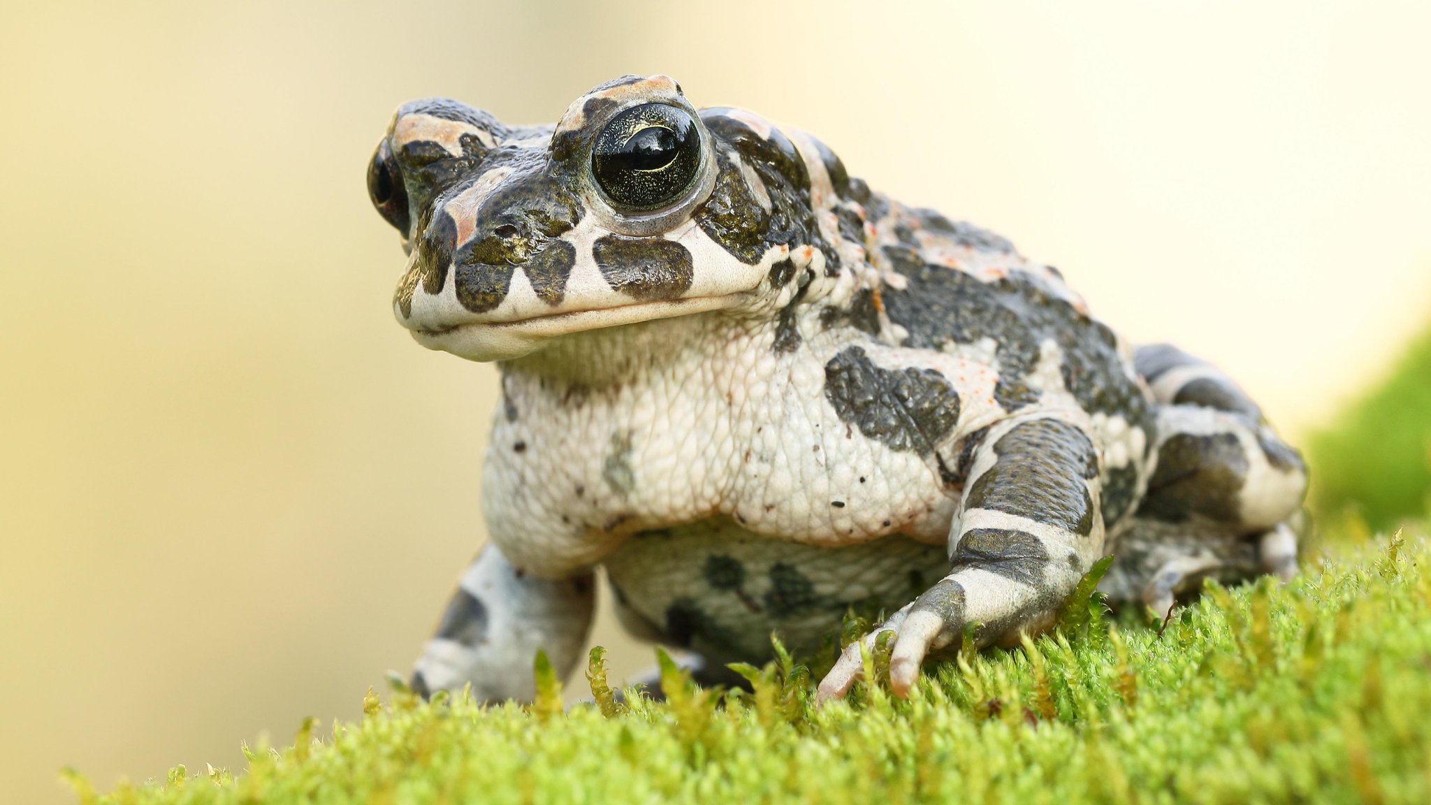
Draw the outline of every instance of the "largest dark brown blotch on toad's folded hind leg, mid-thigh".
M1248 460L1238 437L1178 434L1158 450L1158 468L1138 513L1169 523L1202 514L1222 523L1241 517L1238 494Z

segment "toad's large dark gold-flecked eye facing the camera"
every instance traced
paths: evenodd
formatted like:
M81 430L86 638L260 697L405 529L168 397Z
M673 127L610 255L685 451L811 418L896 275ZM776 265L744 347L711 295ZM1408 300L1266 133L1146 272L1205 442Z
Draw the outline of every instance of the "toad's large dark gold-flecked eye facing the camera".
M701 138L684 109L645 103L601 129L591 150L597 185L618 208L650 211L681 199L701 165Z

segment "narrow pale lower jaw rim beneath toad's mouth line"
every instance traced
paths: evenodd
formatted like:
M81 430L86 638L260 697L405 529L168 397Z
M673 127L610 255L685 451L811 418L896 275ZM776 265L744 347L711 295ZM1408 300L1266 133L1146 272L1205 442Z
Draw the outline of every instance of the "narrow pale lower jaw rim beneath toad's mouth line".
M740 304L744 297L747 294L661 299L617 308L567 311L519 321L478 319L441 329L414 329L412 338L428 350L452 352L469 361L509 361L535 352L561 335L726 309Z

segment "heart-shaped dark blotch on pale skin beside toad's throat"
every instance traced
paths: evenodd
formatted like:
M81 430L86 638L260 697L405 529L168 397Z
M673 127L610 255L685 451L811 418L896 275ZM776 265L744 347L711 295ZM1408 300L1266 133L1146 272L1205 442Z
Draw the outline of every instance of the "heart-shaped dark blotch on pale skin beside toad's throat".
M841 421L890 450L929 455L959 423L959 394L934 370L884 370L861 347L824 365L824 397Z

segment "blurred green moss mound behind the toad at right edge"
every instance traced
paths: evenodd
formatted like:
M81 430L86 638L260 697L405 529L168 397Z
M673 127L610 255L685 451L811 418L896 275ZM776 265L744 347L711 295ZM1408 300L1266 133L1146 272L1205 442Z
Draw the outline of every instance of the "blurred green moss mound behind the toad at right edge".
M1317 511L1351 508L1372 529L1427 511L1431 493L1431 331L1391 378L1311 441Z

